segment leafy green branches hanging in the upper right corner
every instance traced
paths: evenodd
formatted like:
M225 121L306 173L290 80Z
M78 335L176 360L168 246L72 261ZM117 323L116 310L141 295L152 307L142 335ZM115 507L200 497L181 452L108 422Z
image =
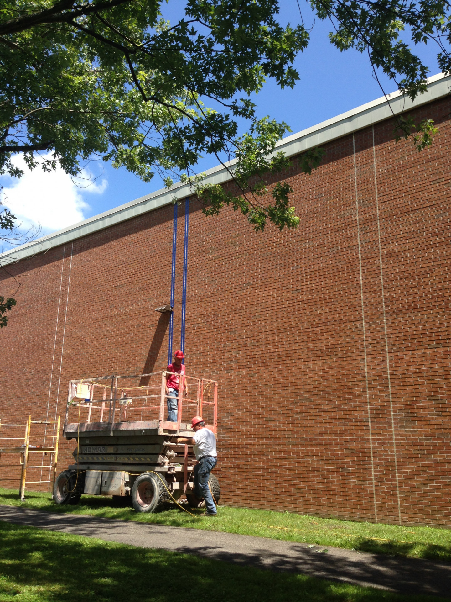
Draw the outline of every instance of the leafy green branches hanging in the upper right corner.
M419 43L437 46L437 62L451 73L451 5L443 0L310 0L319 19L329 19L331 42L340 50L368 54L373 72L381 69L412 100L426 91L428 67L415 54ZM383 90L382 90L383 91ZM431 119L415 123L396 117L394 137L411 138L418 151L431 146L438 131Z

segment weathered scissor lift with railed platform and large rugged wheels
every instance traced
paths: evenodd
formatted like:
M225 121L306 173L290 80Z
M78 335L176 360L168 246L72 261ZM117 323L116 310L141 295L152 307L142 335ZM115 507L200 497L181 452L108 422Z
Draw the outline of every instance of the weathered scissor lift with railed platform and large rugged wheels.
M193 489L195 457L191 418L200 415L216 433L218 383L180 375L177 422L165 420L166 371L70 380L63 435L74 439L74 463L55 480L54 500L76 504L82 494L128 498L138 512L182 495L191 507L203 500ZM184 383L188 395L183 395ZM218 480L210 475L213 497Z

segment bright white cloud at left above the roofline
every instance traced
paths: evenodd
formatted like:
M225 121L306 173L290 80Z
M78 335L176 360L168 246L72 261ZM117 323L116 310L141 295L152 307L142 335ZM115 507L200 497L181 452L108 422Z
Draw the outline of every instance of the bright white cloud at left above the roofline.
M45 155L43 155L45 158ZM93 176L84 170L80 178L72 179L60 167L44 172L40 167L30 171L22 155L16 155L14 165L23 170L22 178L2 176L2 201L22 222L22 229L40 225L42 234L49 234L85 219L90 206L85 194L102 194L108 182L102 179L90 184Z

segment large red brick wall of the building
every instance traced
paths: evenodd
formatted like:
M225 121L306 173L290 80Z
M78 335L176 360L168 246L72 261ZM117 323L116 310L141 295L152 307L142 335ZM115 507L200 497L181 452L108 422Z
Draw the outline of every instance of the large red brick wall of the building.
M219 380L225 504L450 526L450 111L415 112L440 126L423 152L388 120L327 144L311 176L294 162L296 230L256 234L191 202L186 366ZM17 299L0 331L3 422L64 416L69 379L165 368L168 317L153 310L170 298L172 216L2 272Z

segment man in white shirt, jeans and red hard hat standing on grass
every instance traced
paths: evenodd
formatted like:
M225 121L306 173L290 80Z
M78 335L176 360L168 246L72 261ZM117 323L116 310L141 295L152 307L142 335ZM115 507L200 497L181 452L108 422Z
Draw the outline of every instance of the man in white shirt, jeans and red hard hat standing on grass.
M215 468L217 459L215 433L207 429L203 418L195 416L191 420L194 437L177 437L177 443L187 443L193 446L197 464L194 467L194 494L203 497L207 511L206 517L216 516L216 505L213 501L208 479L210 472Z

